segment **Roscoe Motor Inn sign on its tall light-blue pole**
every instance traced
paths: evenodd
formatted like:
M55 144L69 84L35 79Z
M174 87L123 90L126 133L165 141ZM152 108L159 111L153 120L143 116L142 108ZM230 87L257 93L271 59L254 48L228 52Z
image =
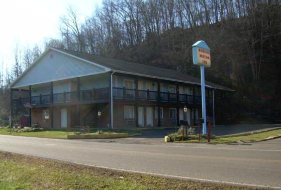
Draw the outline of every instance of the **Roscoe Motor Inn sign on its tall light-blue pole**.
M211 49L202 40L196 42L193 47L193 64L201 67L201 95L202 95L202 118L204 119L203 134L207 134L207 114L206 114L206 95L205 95L205 67L211 67Z

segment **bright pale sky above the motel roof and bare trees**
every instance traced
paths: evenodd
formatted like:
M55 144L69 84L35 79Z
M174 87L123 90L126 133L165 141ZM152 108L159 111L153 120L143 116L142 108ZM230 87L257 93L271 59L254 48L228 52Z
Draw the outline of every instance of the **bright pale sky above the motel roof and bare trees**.
M16 44L32 48L45 39L58 38L60 17L66 15L69 6L82 22L101 4L102 0L0 1L0 63L11 68Z

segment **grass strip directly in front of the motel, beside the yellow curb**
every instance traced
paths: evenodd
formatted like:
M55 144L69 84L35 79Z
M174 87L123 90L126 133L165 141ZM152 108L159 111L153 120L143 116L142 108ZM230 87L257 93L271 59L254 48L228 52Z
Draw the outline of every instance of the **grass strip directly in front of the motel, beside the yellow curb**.
M13 129L12 129L13 130ZM132 135L141 135L137 130L109 130L102 129L103 133L129 133ZM89 134L97 134L98 129L91 129ZM38 132L13 132L11 129L3 128L0 129L0 134L5 135L16 135L16 136L29 136L29 137L41 137L41 138L63 138L66 139L67 135L74 134L74 132L68 132L66 129L50 129ZM87 134L87 133L86 133Z

